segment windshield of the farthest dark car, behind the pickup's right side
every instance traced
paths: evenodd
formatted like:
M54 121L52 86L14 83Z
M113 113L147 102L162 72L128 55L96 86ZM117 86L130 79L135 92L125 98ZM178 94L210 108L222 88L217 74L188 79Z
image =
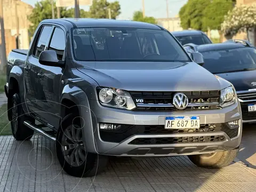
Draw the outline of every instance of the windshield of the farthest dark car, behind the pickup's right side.
M191 36L179 36L176 37L181 45L188 43L194 43L196 45L210 44L212 43L206 35L191 35Z

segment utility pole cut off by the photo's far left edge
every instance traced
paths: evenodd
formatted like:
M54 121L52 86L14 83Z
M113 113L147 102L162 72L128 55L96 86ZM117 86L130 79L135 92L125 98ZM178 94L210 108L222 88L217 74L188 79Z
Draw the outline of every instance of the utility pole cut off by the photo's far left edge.
M5 49L5 36L4 36L4 17L3 17L3 0L0 0L0 26L1 26L1 70L3 71L6 67L6 49Z

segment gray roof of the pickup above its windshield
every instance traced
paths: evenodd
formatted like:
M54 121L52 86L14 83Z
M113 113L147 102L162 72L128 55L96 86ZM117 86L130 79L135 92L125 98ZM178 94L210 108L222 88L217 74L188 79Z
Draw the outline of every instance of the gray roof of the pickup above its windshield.
M73 23L76 27L138 27L138 28L148 28L148 29L161 29L160 27L138 21L128 21L128 20L115 20L115 19L90 19L90 18L63 18L63 19L49 19L47 22L56 22L60 20L65 20Z

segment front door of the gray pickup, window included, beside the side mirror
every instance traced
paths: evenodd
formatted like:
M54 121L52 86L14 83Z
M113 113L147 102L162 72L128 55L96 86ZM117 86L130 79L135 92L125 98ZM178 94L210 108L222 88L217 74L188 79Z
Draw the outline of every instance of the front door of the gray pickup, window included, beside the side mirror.
M66 36L65 30L54 26L49 44L45 50L53 50L57 53L59 60L65 60ZM38 71L38 87L41 99L39 100L38 111L41 111L41 120L50 127L59 126L60 118L60 79L63 68L40 65Z

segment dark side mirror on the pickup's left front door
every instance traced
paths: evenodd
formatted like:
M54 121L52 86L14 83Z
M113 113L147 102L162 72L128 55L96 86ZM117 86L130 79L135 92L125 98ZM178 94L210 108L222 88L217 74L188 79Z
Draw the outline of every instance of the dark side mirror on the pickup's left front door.
M39 55L39 63L45 66L63 67L64 62L58 60L57 53L53 50L42 51Z

